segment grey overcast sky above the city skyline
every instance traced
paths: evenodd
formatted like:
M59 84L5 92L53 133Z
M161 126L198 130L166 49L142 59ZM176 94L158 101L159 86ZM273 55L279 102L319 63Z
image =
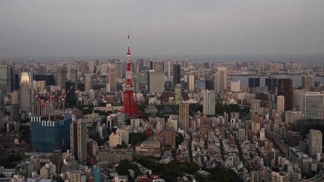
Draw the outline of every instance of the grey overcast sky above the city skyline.
M324 0L0 0L0 57L317 54Z

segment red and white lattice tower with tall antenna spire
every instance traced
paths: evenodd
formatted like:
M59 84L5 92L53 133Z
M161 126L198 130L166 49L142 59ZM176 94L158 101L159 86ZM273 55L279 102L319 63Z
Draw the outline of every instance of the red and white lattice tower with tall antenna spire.
M124 86L124 103L121 108L121 112L128 114L130 118L135 118L136 114L143 118L142 113L138 110L134 99L134 86L132 78L132 62L131 52L129 49L129 32L128 32L128 52L127 52L127 64L126 64L126 85Z

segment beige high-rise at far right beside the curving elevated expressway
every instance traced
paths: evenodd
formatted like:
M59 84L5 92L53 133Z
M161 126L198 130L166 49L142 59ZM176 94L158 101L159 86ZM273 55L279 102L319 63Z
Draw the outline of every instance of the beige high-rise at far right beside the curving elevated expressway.
M312 156L313 154L322 154L322 132L319 130L311 129L308 134L308 154Z

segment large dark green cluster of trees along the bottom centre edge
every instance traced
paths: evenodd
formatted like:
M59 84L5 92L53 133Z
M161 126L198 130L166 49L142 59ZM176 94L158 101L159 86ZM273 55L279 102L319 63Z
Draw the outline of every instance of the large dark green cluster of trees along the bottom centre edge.
M201 182L209 181L241 181L237 174L230 169L226 169L221 166L216 166L213 169L207 169L205 167L200 167L195 162L190 163L179 163L179 162L169 162L168 164L162 164L155 162L155 160L149 157L140 157L135 159L141 165L152 170L152 174L159 175L162 179L167 182L176 182L177 177L184 176L186 174L193 175L196 180ZM208 176L202 176L197 171L203 169L210 173Z

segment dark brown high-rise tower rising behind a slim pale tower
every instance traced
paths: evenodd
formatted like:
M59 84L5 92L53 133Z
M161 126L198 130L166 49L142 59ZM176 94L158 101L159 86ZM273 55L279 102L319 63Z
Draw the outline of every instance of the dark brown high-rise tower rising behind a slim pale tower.
M284 96L284 109L291 110L293 102L293 80L278 79L278 96Z

